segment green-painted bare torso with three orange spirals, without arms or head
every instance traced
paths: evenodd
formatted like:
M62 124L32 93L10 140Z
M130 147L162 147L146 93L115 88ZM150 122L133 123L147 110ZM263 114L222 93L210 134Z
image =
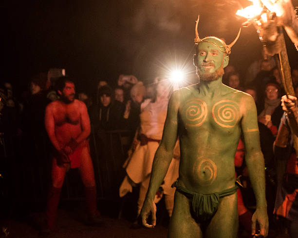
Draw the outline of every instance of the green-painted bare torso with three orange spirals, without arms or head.
M217 94L183 88L178 109L179 184L199 193L234 186L243 93L225 85Z

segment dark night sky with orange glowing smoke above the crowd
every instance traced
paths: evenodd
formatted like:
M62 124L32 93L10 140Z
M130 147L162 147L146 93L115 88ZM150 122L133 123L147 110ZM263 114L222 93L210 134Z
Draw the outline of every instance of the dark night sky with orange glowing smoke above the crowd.
M246 0L60 0L23 1L1 6L4 61L1 78L24 86L30 76L49 68L66 73L89 90L99 80L116 82L120 73L147 81L167 68L191 66L195 20L199 34L230 43L243 19L235 13ZM298 0L292 0L298 6ZM246 5L245 5L246 4ZM286 38L290 64L298 52ZM253 26L242 29L230 64L244 75L261 58Z

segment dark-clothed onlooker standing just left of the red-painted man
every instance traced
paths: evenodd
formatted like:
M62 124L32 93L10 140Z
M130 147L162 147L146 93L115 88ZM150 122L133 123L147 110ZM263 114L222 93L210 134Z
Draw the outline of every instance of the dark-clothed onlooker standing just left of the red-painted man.
M50 161L47 157L51 144L44 126L45 108L51 102L47 98L45 87L47 74L39 73L30 79L30 95L24 101L21 114L22 153L24 164L22 176L26 177L27 199L45 200L50 182ZM26 161L26 162L25 162Z

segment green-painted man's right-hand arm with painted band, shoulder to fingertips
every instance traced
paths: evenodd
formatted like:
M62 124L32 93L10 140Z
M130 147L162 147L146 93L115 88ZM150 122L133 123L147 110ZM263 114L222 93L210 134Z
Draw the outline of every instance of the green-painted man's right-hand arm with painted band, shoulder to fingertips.
M256 211L252 218L252 234L256 234L256 221L258 221L260 233L266 237L268 234L268 216L265 198L265 165L260 147L257 109L253 98L250 96L243 97L241 108L245 161L257 202Z

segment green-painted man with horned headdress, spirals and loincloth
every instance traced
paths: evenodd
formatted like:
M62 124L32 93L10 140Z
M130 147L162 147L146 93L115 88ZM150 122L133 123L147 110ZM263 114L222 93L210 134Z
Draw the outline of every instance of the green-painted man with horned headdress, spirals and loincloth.
M199 18L198 18L199 21ZM267 236L264 159L260 148L257 111L253 98L222 84L232 45L217 37L199 38L196 24L194 65L199 83L176 90L160 146L155 154L151 180L141 211L146 227L154 227L154 195L168 170L177 136L180 139L179 179L169 238L236 238L237 187L234 156L242 135L245 160L256 197L252 234L256 223ZM152 222L148 217L151 214Z

